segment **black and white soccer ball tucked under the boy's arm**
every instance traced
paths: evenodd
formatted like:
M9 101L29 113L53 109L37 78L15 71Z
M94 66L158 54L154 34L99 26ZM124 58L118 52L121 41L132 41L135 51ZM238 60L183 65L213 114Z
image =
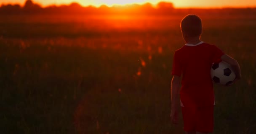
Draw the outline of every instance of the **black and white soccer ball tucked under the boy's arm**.
M211 67L211 78L214 83L230 85L235 80L235 72L227 62L213 63Z

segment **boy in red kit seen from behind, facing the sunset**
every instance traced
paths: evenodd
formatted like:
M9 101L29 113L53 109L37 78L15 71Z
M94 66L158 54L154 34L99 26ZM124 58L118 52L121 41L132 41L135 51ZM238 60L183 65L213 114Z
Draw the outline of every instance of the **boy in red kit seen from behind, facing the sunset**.
M189 14L182 19L181 32L186 44L175 51L173 58L171 121L177 123L180 103L186 134L212 133L214 92L211 65L221 60L231 64L236 74L235 81L241 78L240 67L235 59L216 46L200 41L203 28L197 15Z

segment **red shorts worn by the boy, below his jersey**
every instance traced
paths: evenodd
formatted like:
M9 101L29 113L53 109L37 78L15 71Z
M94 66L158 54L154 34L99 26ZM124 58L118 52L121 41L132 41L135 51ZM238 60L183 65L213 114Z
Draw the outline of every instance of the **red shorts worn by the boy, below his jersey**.
M213 108L207 107L181 107L184 121L184 130L201 133L213 132Z

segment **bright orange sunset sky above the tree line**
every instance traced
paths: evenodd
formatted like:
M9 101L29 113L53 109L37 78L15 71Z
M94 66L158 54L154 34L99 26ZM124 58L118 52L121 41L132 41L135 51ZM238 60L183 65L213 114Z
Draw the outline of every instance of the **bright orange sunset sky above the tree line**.
M35 3L40 3L45 5L60 5L69 4L72 2L80 3L81 5L125 5L132 3L147 3L156 4L162 0L33 0ZM187 7L199 7L199 8L221 8L221 7L256 7L256 0L164 0L167 2L172 2L177 8L187 8ZM23 4L25 0L0 0L0 3L19 3Z

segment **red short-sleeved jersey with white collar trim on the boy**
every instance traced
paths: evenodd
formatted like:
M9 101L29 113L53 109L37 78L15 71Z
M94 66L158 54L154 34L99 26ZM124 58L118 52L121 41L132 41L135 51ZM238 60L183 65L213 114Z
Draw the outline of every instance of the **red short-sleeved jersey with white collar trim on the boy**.
M211 66L219 62L224 53L215 45L200 42L186 44L176 50L173 57L172 75L181 76L181 105L209 106L214 104Z

